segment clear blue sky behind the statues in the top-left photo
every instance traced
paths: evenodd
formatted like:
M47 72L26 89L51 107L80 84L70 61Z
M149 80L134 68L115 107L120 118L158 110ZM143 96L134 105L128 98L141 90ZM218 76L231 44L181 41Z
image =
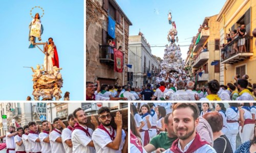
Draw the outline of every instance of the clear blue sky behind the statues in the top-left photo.
M5 0L0 5L0 100L26 100L32 96L33 82L30 68L44 63L38 48L29 49L30 10L40 6L45 10L42 41L53 38L62 67L62 97L70 92L71 100L83 100L83 1L18 1ZM41 10L36 8L32 15Z

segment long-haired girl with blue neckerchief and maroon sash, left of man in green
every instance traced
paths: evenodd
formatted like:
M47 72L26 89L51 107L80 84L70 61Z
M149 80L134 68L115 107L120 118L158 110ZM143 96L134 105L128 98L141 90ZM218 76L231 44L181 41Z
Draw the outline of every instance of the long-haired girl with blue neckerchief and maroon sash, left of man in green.
M140 112L142 113L141 118L145 123L145 125L140 130L142 145L145 146L150 142L150 133L148 132L148 130L152 126L152 116L150 114L150 107L147 104L141 106Z

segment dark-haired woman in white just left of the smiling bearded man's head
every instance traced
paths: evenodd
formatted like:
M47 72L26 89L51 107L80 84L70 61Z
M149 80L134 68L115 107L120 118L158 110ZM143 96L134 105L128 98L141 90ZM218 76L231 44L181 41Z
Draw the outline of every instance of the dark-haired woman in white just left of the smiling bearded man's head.
M164 116L166 115L166 110L162 106L158 107L157 110L157 115L159 116L157 120L157 134L160 134L160 132L165 131Z

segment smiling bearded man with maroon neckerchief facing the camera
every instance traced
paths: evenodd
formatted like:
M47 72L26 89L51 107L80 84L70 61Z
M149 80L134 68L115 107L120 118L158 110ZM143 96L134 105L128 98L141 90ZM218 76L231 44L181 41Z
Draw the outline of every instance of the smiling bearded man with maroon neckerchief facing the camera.
M195 103L178 103L173 107L174 132L179 139L165 152L216 153L208 142L202 141L196 133L199 123L199 109Z

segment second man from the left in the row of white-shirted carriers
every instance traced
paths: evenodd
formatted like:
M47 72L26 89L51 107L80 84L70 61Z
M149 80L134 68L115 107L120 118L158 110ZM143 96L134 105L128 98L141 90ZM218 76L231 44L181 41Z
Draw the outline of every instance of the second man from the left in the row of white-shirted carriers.
M15 151L16 153L26 153L25 145L22 140L22 135L24 134L24 130L22 127L18 127L17 132L18 132L18 135L14 137L14 142L16 143Z

